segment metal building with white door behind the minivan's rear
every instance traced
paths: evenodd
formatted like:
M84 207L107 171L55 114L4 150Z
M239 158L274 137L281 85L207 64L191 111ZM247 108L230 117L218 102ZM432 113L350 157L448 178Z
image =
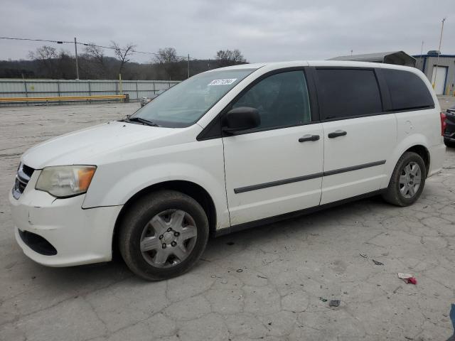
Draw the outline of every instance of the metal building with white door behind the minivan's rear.
M455 87L455 55L414 55L417 69L422 70L437 94L454 94ZM438 65L438 67L436 67ZM434 79L436 77L436 80Z

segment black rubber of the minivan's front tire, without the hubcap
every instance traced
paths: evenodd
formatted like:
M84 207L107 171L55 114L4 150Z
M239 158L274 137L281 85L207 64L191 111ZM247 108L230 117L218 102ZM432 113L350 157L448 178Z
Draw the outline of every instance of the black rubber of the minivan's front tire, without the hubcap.
M168 267L156 267L146 261L141 252L141 236L144 228L160 212L183 210L191 215L196 224L196 244L186 259ZM192 197L174 190L159 190L141 197L128 208L122 218L119 230L119 250L134 274L149 281L160 281L183 274L196 264L207 244L209 226L207 215Z

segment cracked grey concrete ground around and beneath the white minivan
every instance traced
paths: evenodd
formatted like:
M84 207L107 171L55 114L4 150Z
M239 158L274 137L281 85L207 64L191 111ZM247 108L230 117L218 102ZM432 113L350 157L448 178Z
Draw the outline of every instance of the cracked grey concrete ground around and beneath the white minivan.
M440 102L449 107L455 98ZM138 107L0 108L0 340L446 340L453 334L450 149L443 171L427 180L411 207L373 198L210 239L203 260L169 281L142 281L120 259L62 269L27 259L14 242L7 202L21 153ZM417 286L397 272L414 274ZM341 305L329 308L321 298Z

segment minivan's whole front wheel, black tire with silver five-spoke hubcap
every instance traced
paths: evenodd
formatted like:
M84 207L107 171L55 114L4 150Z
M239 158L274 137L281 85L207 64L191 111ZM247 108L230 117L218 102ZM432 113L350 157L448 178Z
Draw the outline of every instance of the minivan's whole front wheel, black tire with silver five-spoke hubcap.
M134 274L160 281L191 269L203 254L208 233L207 215L196 200L159 190L128 208L120 224L119 250Z

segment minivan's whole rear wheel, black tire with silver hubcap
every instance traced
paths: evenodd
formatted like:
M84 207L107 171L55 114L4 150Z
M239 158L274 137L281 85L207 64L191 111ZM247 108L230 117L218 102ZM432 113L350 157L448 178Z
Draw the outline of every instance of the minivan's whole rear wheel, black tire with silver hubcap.
M407 166L410 168L407 168ZM417 172L417 168L413 168L414 166L418 166L420 171L420 182L418 186L417 175L414 175L414 178L411 176L413 170ZM382 195L382 198L392 205L402 207L412 205L422 194L426 178L427 168L425 168L422 157L417 153L408 151L398 160L390 178L389 186Z

